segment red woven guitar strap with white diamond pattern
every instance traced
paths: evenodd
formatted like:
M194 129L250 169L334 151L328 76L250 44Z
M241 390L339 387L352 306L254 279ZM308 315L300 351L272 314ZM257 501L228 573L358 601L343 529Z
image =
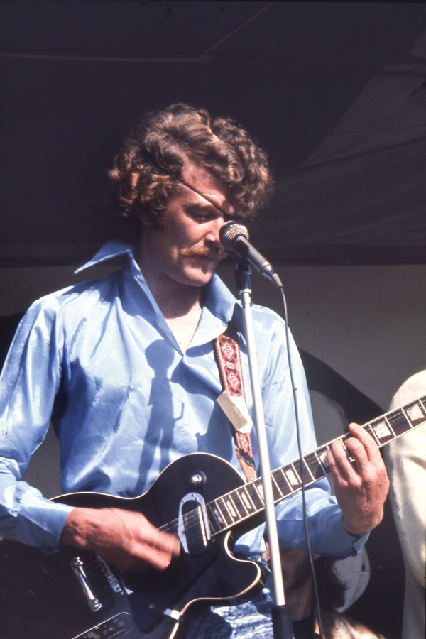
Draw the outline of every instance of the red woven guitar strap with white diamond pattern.
M231 397L242 397L245 401L239 345L234 337L231 337L230 332L228 327L224 334L214 340L214 353L224 391ZM236 445L236 457L239 459L241 469L246 480L253 481L256 478L256 466L253 459L250 432L241 432L231 422L229 424Z

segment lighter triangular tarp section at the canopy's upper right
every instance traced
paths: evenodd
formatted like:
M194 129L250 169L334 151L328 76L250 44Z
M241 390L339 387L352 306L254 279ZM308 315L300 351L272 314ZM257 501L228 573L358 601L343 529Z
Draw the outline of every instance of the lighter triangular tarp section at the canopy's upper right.
M261 244L426 246L425 76L426 33L280 180Z

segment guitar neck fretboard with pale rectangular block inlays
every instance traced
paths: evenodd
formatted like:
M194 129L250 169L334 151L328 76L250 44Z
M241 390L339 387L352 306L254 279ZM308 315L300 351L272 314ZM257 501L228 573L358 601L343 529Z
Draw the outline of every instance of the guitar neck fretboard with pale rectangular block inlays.
M425 422L426 395L378 417L365 424L363 428L373 437L378 447L382 447ZM279 503L300 491L302 486L310 486L328 475L330 469L327 464L327 452L334 442L342 442L349 459L354 461L346 448L346 440L349 437L349 433L337 437L305 455L302 460L297 459L273 471L271 478L274 502ZM210 531L212 535L216 535L233 528L236 524L262 513L264 508L263 486L259 478L207 504Z

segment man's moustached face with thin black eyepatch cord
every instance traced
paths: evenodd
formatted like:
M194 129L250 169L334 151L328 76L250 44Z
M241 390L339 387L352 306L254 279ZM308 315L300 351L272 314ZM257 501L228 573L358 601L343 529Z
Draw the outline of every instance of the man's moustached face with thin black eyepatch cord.
M226 185L209 170L188 162L182 180L209 202L180 184L165 209L160 228L142 219L138 261L144 274L148 268L149 275L169 284L202 286L224 257L219 230L234 209Z

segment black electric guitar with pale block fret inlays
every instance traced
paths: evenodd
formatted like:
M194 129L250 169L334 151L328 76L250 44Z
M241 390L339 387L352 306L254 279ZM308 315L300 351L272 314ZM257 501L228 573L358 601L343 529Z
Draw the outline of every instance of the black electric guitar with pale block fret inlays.
M364 429L381 447L425 422L426 395ZM345 448L349 436L337 438ZM272 472L275 503L329 474L332 443ZM231 554L233 536L263 521L261 479L244 484L219 457L195 453L174 461L141 497L74 493L53 501L137 510L160 530L178 535L180 556L163 572L121 579L92 552L64 547L46 555L4 539L1 639L172 639L195 601L219 602L263 586L258 564Z

